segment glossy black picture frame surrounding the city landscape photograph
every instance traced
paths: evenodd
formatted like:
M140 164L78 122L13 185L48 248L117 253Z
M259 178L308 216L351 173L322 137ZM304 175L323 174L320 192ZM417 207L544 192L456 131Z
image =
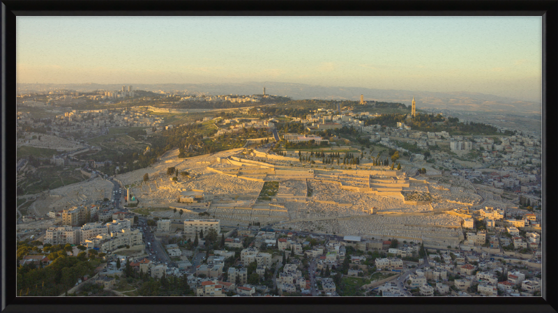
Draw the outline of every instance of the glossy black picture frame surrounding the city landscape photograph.
M133 8L133 10L130 10ZM383 15L542 16L543 20L543 296L541 298L151 298L16 297L15 294L15 19L29 15ZM1 3L1 310L3 312L557 312L556 210L548 209L546 116L558 104L558 1L2 1ZM8 183L10 182L10 183ZM551 191L550 191L551 192Z

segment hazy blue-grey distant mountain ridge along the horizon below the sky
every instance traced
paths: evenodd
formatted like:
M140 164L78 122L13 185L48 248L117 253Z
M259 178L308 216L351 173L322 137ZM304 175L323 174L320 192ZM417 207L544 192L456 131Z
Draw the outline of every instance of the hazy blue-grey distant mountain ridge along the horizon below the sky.
M18 84L18 86L24 84ZM33 84L27 84L33 85ZM125 84L128 86L128 84ZM484 93L466 91L433 92L433 91L406 91L395 89L370 89L363 87L317 86L310 84L296 84L285 82L243 82L227 84L131 84L134 89L146 91L158 90L187 90L190 93L262 94L287 96L294 100L302 99L327 99L327 100L360 100L361 94L365 100L386 102L401 102L410 105L415 98L416 107L437 109L459 109L462 111L478 112L516 112L527 114L542 114L541 102L505 98ZM51 86L56 86L52 84ZM121 90L122 84L63 84L68 89L77 91L93 91L96 89Z

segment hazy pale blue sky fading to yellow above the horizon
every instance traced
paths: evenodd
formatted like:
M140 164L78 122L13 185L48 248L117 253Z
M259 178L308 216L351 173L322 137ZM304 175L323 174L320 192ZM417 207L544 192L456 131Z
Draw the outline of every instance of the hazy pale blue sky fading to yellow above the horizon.
M295 82L541 100L541 17L17 17L17 82Z

